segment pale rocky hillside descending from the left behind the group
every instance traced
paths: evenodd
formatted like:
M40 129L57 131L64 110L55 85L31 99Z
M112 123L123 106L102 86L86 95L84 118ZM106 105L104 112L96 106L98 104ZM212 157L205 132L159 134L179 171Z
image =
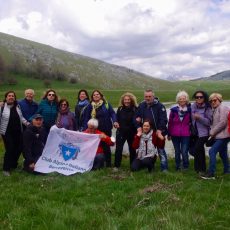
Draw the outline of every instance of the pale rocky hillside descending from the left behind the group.
M143 73L105 63L97 59L74 54L51 46L0 33L0 54L6 63L15 55L19 56L24 66L31 65L38 59L48 68L61 70L72 76L79 83L101 89L144 89L168 88L173 83L152 78Z

